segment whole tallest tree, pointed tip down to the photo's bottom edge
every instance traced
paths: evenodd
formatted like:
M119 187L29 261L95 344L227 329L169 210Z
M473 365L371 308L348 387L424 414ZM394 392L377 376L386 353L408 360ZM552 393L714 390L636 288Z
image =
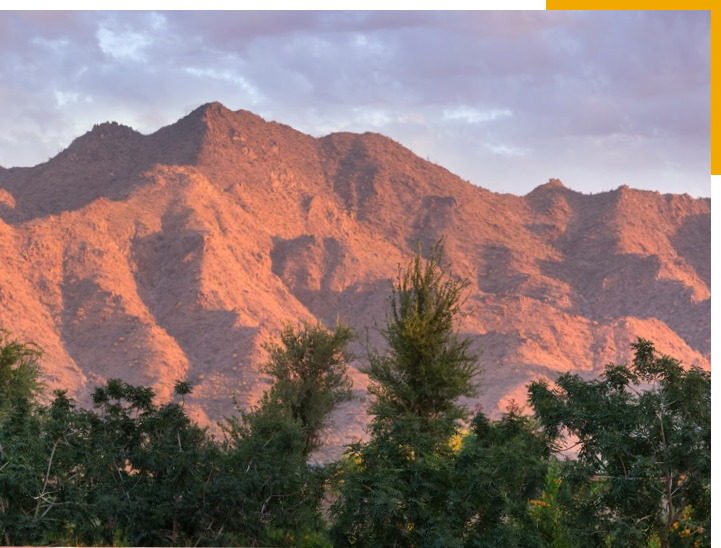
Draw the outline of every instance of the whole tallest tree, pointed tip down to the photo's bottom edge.
M453 546L447 503L450 440L467 412L478 372L470 341L453 327L467 281L444 265L443 242L399 267L381 331L388 349L369 351L374 401L367 443L350 446L338 475L334 546Z

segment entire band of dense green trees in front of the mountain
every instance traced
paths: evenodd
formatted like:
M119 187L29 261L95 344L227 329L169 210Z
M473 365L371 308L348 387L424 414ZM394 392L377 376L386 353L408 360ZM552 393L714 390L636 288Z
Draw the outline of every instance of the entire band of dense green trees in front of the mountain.
M120 380L92 409L44 399L39 349L0 334L0 543L707 546L708 374L640 339L597 380L532 383L530 414L471 416L477 357L453 327L465 290L442 244L399 269L387 348L365 367L370 438L325 466L309 455L353 397L344 325L269 342L272 386L222 440L188 418L187 382L162 406Z

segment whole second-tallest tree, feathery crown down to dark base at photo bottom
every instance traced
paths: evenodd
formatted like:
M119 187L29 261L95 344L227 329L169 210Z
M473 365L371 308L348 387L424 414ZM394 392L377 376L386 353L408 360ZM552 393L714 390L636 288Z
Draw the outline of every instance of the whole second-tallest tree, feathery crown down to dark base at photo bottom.
M217 484L232 542L319 546L327 542L321 502L327 472L308 463L336 406L353 397L351 329L287 325L265 345L262 371L273 383L259 404L226 419L224 468Z

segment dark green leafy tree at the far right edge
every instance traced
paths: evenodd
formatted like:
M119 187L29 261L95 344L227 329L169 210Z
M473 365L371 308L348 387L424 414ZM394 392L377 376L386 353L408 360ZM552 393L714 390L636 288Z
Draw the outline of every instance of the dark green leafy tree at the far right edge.
M707 538L709 519L709 375L650 341L632 348L630 366L607 365L600 379L532 383L531 405L549 438L578 440L563 480L579 545L631 548L655 537L663 548L692 546Z

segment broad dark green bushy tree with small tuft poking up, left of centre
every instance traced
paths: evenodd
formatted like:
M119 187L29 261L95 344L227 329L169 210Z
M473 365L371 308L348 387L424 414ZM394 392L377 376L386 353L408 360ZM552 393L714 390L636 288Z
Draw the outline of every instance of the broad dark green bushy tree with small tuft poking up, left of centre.
M176 384L176 393L177 388L190 391L183 383ZM61 456L70 454L75 494L57 499L58 510L49 514L64 524L64 534L51 540L212 543L217 529L209 526L209 516L222 501L208 493L219 456L206 430L193 424L181 405L158 406L151 388L119 379L97 387L92 399L93 410L74 409L64 394L52 403L55 423L63 427L51 429L49 423L46 432L61 434L58 448ZM58 475L62 467L54 471Z

